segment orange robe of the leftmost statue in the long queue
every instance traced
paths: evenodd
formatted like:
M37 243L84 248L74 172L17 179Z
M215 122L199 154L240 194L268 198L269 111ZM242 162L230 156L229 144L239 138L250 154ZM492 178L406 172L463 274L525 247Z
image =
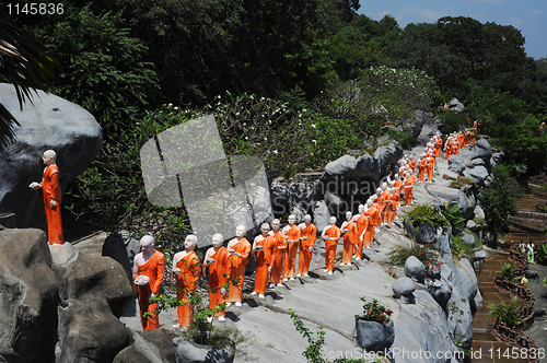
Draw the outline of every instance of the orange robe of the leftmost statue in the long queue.
M133 281L137 277L144 274L150 278L147 285L135 286L139 293L139 307L140 307L140 323L142 325L142 330L152 330L160 327L160 317L155 314L158 308L158 303L150 304L150 294L158 295L160 293L160 288L165 276L165 257L159 250L154 251L153 255L142 265L137 265L139 268L138 274L133 274ZM152 316L144 317L144 313L151 313Z

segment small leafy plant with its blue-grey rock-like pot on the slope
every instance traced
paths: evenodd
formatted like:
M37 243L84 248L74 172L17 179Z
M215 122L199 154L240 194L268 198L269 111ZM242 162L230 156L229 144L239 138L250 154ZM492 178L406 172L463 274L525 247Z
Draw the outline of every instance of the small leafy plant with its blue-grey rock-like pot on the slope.
M365 296L363 314L356 315L356 329L358 344L366 351L384 351L392 347L395 340L395 328L389 316L393 311L379 305L377 300L366 303Z

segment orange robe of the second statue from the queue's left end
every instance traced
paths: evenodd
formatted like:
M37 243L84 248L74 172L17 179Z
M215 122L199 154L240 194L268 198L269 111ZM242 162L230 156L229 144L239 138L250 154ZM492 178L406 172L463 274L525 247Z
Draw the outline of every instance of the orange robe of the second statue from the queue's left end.
M176 298L183 301L183 305L178 305L176 313L178 324L188 329L191 328L194 321L194 305L184 302L196 292L199 281L199 258L195 251L187 254L176 264L176 267L181 269L176 280Z

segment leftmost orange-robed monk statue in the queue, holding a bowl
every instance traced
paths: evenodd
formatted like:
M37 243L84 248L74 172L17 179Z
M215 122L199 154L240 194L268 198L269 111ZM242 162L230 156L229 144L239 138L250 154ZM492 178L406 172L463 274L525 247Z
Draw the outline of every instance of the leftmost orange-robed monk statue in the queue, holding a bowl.
M154 249L154 238L146 235L140 238L142 253L135 256L133 283L139 293L140 321L142 330L152 330L160 327L160 317L155 314L158 303L151 304L149 298L160 293L165 273L165 257ZM151 316L144 316L150 313Z

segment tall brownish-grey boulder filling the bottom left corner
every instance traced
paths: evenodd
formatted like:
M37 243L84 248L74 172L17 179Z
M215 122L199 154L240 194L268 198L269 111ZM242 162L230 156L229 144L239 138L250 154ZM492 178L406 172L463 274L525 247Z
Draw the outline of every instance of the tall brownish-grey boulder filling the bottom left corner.
M0 362L54 362L59 288L45 233L1 231L0 266Z

